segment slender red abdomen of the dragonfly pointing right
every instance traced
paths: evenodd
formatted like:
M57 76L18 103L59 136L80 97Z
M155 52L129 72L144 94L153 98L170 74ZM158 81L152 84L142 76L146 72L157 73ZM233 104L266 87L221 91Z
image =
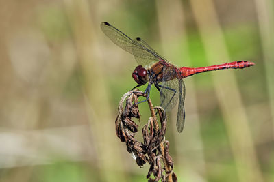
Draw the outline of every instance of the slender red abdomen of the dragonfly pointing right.
M198 74L201 72L209 72L214 70L223 70L223 69L242 69L245 67L249 67L255 65L249 61L234 61L232 63L223 63L221 65L211 65L206 67L181 67L179 70L181 71L181 77L186 78L188 76L192 76L193 74Z

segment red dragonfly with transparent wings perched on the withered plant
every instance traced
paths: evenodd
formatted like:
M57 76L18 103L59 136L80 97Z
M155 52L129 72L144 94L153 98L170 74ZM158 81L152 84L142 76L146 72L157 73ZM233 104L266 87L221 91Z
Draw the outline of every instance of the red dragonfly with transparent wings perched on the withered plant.
M160 106L162 106L164 110L170 110L179 100L176 123L178 132L183 131L185 121L184 98L186 89L183 78L201 72L230 68L242 69L255 65L249 61L234 61L207 67L175 67L175 65L169 63L164 57L155 52L155 50L140 37L132 40L108 22L102 22L101 29L114 44L134 55L139 64L132 73L132 78L134 78L138 84L136 87L145 85L148 82L147 89L145 89L144 92L147 93L147 98L141 102L149 99L151 85L153 84L158 91L160 91ZM136 87L134 87L134 89ZM138 102L138 104L141 102Z

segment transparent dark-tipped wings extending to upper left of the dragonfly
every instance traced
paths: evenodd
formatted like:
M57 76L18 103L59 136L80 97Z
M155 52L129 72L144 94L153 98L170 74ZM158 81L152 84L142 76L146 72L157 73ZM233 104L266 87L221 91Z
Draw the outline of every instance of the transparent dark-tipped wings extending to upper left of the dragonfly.
M142 44L142 41L139 42L137 40L132 40L130 37L125 35L125 33L119 31L119 29L116 29L108 22L102 22L101 29L103 33L114 42L114 44L134 55L139 65L151 65L155 61L162 59L153 49Z

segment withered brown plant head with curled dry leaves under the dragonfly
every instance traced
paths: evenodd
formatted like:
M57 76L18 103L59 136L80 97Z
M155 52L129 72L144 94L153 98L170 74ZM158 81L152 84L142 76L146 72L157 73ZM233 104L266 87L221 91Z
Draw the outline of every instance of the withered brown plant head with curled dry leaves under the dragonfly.
M166 134L166 113L160 106L153 107L151 99L147 100L151 117L147 124L142 127L143 141L134 138L138 132L138 125L133 118L139 119L138 97L146 97L138 89L129 91L123 95L119 102L119 114L116 117L116 134L121 142L125 142L127 151L132 153L140 168L149 163L150 168L147 174L149 181L177 181L173 172L173 160L169 155L169 141L165 140ZM123 103L125 102L125 108ZM160 120L160 127L158 118ZM151 178L151 174L155 179Z

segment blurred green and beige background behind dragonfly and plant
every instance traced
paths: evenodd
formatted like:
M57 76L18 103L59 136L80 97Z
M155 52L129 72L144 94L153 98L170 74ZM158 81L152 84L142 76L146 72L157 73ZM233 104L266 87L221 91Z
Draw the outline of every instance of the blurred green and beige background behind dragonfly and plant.
M186 125L168 113L179 181L274 181L271 0L0 1L0 181L147 181L115 134L134 57L100 23L142 37L177 66L249 60L197 74ZM145 87L140 87L145 89ZM153 88L151 98L159 103ZM140 105L140 128L147 104Z

